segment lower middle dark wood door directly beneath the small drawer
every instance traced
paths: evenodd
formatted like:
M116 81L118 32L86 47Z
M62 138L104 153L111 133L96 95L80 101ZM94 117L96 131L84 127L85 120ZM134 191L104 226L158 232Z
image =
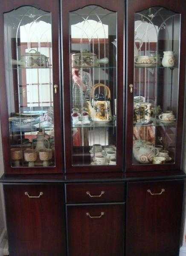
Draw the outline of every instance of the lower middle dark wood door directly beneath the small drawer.
M67 206L69 256L123 256L125 204Z

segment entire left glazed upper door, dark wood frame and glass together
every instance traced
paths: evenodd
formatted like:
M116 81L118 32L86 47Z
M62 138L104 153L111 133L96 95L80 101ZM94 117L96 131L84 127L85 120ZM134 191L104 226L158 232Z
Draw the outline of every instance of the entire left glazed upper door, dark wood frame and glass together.
M0 101L5 170L61 172L59 3L19 2L1 4L1 61L4 59L5 65L1 66Z

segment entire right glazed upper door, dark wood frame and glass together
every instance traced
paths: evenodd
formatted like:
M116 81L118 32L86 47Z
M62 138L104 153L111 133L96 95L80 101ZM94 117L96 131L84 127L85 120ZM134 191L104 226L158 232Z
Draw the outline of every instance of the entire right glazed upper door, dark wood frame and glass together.
M183 132L185 10L172 1L128 4L126 168L176 170Z

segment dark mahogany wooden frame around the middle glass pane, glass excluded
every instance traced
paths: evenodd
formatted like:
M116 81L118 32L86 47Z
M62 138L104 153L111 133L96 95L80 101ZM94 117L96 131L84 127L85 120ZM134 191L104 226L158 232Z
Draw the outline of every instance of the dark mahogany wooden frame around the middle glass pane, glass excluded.
M69 51L69 12L81 9L85 6L96 5L113 12L117 12L117 165L113 166L73 166L72 165L72 142L71 142L71 107L70 107L70 51ZM102 171L122 171L123 170L123 94L124 94L124 12L123 0L62 0L62 35L63 35L63 94L64 94L64 143L65 162L67 172L102 172Z

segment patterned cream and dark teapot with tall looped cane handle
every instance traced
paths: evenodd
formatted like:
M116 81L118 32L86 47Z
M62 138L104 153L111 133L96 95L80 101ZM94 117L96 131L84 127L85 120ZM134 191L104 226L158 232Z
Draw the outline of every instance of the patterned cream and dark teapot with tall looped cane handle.
M95 90L97 88L103 87L105 89L106 95L103 97L103 94L96 94ZM93 86L90 97L91 101L87 101L90 111L90 117L92 121L98 124L105 124L112 120L112 113L110 108L110 89L108 86L98 83Z

